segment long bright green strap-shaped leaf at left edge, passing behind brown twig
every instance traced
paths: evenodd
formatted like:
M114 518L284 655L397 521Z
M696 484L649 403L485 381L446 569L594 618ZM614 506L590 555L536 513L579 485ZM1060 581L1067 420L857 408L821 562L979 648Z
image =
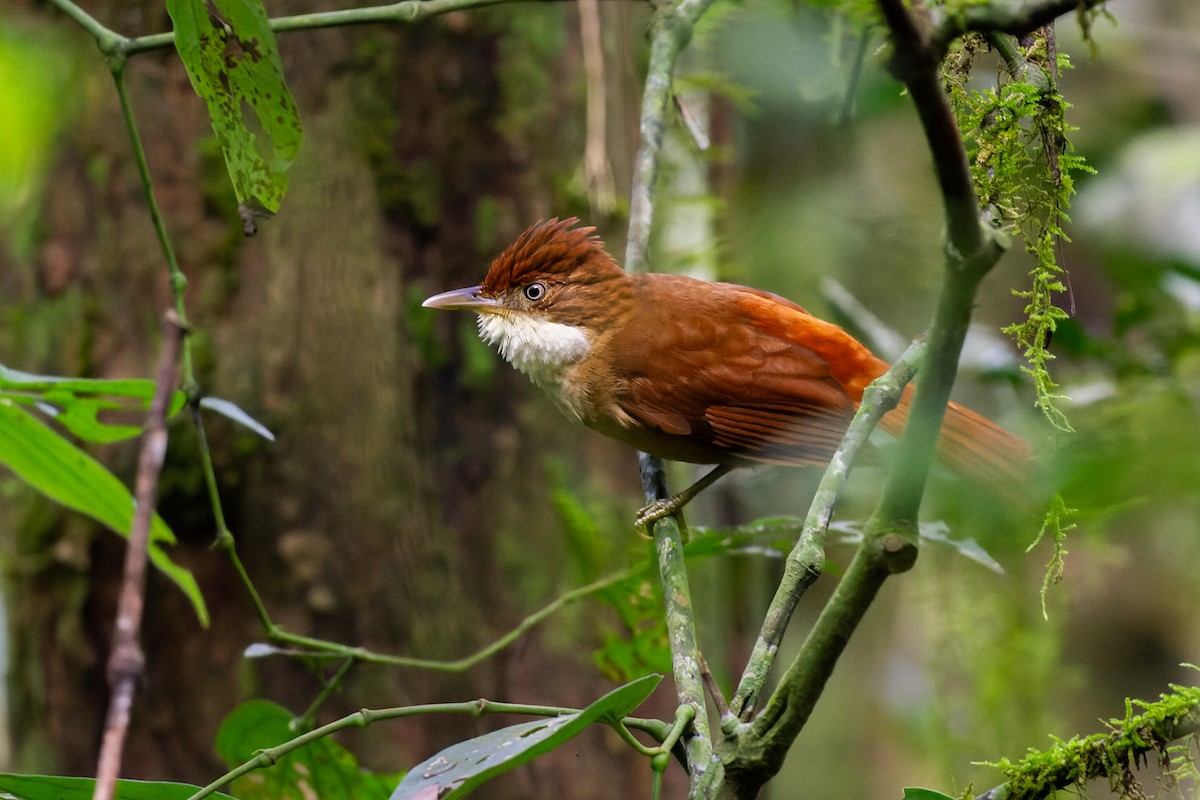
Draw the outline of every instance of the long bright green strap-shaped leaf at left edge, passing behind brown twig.
M31 487L88 515L121 536L133 524L133 497L116 476L10 398L0 397L0 463ZM162 545L175 542L158 515L150 524L150 561L192 601L200 624L209 613L192 573L174 564Z

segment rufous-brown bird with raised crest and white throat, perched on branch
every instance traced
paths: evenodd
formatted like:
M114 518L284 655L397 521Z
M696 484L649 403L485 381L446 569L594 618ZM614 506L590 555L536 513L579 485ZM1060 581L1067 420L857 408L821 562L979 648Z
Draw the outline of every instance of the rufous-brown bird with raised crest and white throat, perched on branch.
M824 467L868 385L889 365L780 295L683 275L630 273L577 217L526 229L484 282L427 308L478 314L479 335L571 419L668 461L715 469L637 518L677 512L730 470ZM912 387L880 427L899 435ZM1030 446L949 403L938 456L1019 494Z

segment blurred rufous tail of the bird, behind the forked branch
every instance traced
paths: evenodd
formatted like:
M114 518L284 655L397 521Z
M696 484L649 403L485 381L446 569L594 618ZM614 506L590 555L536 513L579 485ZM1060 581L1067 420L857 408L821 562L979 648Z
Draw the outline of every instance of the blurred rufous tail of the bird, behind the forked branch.
M892 435L904 433L913 389L905 389L896 408L880 420ZM1033 450L1020 437L958 403L946 407L937 440L938 461L959 475L1009 499L1028 500Z

